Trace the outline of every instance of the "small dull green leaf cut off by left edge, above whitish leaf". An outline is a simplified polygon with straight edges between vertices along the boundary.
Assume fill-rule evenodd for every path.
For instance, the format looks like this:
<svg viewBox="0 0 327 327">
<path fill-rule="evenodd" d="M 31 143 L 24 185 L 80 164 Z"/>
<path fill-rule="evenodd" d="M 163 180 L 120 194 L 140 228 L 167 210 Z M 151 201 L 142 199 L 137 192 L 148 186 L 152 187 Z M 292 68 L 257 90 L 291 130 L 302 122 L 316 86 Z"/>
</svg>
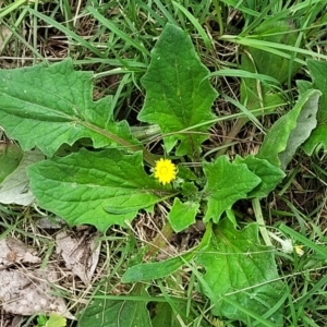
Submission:
<svg viewBox="0 0 327 327">
<path fill-rule="evenodd" d="M 23 153 L 15 144 L 0 144 L 0 183 L 20 165 Z"/>
</svg>

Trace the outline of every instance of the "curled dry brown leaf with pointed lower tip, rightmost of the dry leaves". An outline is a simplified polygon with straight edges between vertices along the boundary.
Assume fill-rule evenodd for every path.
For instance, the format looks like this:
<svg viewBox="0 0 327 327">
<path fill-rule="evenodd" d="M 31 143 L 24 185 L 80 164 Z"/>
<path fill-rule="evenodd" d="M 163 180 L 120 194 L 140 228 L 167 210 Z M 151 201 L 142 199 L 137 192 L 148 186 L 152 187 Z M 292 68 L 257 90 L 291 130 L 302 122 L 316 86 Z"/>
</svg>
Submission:
<svg viewBox="0 0 327 327">
<path fill-rule="evenodd" d="M 58 233 L 56 243 L 57 253 L 61 254 L 65 266 L 88 284 L 100 254 L 100 244 L 95 249 L 96 235 L 85 233 L 80 239 L 73 239 L 62 231 Z"/>
</svg>

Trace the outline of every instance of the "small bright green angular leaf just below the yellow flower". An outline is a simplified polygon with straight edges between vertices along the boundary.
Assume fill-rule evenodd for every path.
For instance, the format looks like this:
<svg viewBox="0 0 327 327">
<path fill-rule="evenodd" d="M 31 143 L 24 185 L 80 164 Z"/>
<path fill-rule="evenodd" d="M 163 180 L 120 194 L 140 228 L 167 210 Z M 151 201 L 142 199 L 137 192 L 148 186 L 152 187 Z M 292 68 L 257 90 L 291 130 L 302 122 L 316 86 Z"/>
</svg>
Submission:
<svg viewBox="0 0 327 327">
<path fill-rule="evenodd" d="M 194 223 L 198 207 L 198 203 L 193 203 L 191 201 L 182 203 L 175 197 L 167 217 L 172 229 L 178 233 Z"/>
</svg>

